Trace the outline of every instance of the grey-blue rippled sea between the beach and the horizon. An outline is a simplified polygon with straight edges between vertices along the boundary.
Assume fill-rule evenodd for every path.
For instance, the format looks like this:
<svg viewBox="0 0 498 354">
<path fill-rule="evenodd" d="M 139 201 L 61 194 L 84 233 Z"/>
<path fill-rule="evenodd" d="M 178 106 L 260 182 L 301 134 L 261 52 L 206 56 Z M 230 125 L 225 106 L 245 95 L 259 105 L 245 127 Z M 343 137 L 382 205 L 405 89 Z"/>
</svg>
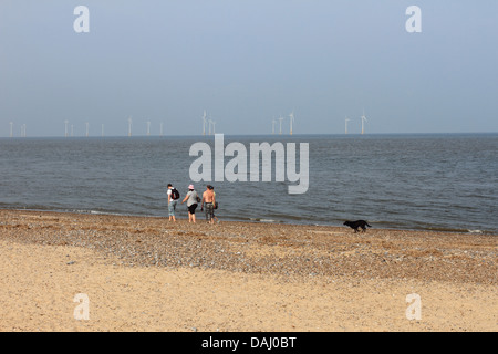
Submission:
<svg viewBox="0 0 498 354">
<path fill-rule="evenodd" d="M 0 138 L 0 208 L 167 216 L 166 185 L 185 196 L 196 142 L 214 146 L 212 136 Z M 230 142 L 248 152 L 250 143 L 309 143 L 310 186 L 289 195 L 288 181 L 211 183 L 221 220 L 498 231 L 498 134 L 225 136 Z M 186 207 L 177 214 L 187 217 Z"/>
</svg>

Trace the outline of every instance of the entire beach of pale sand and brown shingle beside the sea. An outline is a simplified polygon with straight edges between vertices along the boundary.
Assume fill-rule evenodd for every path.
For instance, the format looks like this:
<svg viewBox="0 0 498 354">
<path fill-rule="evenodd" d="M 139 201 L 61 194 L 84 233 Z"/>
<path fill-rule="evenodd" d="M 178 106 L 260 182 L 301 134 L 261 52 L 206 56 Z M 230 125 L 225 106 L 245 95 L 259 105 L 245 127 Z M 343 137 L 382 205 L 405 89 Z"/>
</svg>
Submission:
<svg viewBox="0 0 498 354">
<path fill-rule="evenodd" d="M 497 331 L 497 246 L 0 210 L 0 331 Z"/>
</svg>

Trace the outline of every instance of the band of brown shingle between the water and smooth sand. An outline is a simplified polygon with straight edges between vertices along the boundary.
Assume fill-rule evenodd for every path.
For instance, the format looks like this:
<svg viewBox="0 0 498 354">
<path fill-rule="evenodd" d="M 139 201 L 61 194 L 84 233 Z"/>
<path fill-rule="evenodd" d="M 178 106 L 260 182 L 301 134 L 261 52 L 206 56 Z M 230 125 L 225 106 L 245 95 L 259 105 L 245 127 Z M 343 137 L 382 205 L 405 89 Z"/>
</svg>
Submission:
<svg viewBox="0 0 498 354">
<path fill-rule="evenodd" d="M 1 211 L 2 238 L 74 246 L 134 267 L 198 267 L 287 277 L 419 279 L 497 284 L 495 235 L 132 216 Z"/>
</svg>

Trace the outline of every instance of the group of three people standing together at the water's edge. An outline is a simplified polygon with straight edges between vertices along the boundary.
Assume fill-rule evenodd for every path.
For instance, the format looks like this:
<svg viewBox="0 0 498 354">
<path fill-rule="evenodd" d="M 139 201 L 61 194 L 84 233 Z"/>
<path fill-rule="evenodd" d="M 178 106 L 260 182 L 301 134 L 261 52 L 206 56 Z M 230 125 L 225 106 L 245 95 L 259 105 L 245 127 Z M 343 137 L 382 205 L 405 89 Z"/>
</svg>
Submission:
<svg viewBox="0 0 498 354">
<path fill-rule="evenodd" d="M 176 221 L 175 210 L 179 200 L 178 190 L 173 187 L 172 184 L 168 184 L 168 215 L 169 221 Z M 188 192 L 185 196 L 181 204 L 187 202 L 188 209 L 188 222 L 196 222 L 196 209 L 198 204 L 200 202 L 200 211 L 206 210 L 206 221 L 209 223 L 215 223 L 215 208 L 216 204 L 216 194 L 215 188 L 211 185 L 206 186 L 206 190 L 203 192 L 203 198 L 199 197 L 197 191 L 194 188 L 194 185 L 188 186 Z"/>
</svg>

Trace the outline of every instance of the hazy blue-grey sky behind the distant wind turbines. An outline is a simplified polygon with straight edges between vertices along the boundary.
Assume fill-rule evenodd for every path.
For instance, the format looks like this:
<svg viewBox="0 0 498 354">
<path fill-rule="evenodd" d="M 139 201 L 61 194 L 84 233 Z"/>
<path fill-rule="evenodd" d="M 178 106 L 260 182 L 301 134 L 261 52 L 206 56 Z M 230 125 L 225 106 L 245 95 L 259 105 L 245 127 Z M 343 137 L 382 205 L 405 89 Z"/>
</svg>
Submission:
<svg viewBox="0 0 498 354">
<path fill-rule="evenodd" d="M 87 33 L 73 11 L 86 6 Z M 409 6 L 422 32 L 405 29 Z M 0 1 L 0 137 L 498 132 L 498 1 Z"/>
</svg>

